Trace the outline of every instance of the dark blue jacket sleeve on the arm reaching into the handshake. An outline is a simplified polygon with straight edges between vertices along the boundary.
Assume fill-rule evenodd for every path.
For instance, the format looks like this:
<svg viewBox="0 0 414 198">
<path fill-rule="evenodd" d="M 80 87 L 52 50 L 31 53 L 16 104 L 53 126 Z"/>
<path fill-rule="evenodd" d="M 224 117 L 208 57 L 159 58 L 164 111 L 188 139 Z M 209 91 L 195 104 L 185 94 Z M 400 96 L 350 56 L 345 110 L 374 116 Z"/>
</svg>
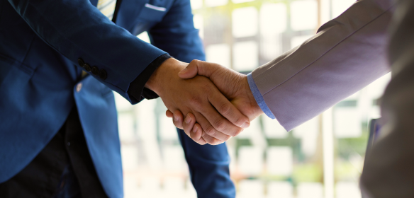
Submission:
<svg viewBox="0 0 414 198">
<path fill-rule="evenodd" d="M 132 82 L 153 60 L 166 52 L 109 21 L 87 0 L 9 0 L 11 6 L 50 47 L 78 65 L 82 59 L 106 71 L 101 83 L 128 95 Z"/>
</svg>

